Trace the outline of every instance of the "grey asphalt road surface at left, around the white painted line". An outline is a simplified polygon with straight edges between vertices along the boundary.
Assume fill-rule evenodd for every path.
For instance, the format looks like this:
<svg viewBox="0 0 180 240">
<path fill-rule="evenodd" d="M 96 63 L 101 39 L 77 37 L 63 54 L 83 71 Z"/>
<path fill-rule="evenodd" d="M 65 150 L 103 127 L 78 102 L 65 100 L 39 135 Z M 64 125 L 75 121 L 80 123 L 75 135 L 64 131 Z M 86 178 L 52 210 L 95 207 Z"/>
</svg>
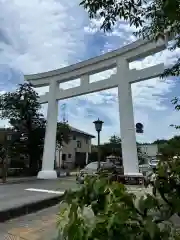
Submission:
<svg viewBox="0 0 180 240">
<path fill-rule="evenodd" d="M 26 189 L 28 188 L 64 191 L 67 189 L 76 189 L 77 187 L 75 177 L 0 185 L 0 211 L 57 196 L 55 193 L 27 191 Z"/>
</svg>

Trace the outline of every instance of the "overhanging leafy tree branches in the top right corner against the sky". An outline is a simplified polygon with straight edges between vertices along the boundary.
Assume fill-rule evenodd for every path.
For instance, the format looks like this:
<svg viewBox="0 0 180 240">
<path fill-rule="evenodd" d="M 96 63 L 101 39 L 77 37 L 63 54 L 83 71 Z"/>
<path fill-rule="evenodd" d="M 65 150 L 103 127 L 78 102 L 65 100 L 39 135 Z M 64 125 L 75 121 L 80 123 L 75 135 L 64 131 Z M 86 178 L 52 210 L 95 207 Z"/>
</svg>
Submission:
<svg viewBox="0 0 180 240">
<path fill-rule="evenodd" d="M 82 0 L 90 19 L 102 18 L 101 29 L 111 31 L 118 20 L 127 21 L 139 30 L 138 37 L 157 39 L 165 35 L 173 41 L 171 50 L 180 47 L 179 0 Z M 179 76 L 180 58 L 163 76 Z"/>
</svg>

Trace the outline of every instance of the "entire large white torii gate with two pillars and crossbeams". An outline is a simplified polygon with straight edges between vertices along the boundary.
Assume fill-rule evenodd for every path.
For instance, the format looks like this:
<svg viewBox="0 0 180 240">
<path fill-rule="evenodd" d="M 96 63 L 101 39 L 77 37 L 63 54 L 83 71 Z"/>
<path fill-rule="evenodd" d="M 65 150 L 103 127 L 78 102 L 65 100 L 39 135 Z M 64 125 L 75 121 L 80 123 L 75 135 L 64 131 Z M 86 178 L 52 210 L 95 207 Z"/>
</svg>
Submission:
<svg viewBox="0 0 180 240">
<path fill-rule="evenodd" d="M 40 96 L 40 103 L 48 103 L 48 110 L 42 170 L 38 173 L 38 178 L 57 178 L 56 171 L 54 170 L 54 157 L 56 148 L 58 100 L 114 87 L 118 88 L 124 173 L 127 175 L 140 175 L 131 84 L 158 77 L 164 71 L 164 64 L 158 64 L 141 70 L 130 70 L 129 63 L 160 52 L 165 48 L 166 44 L 162 40 L 159 40 L 158 42 L 138 40 L 118 50 L 68 67 L 25 76 L 25 79 L 31 82 L 34 87 L 49 85 L 49 92 Z M 89 82 L 90 75 L 114 67 L 117 68 L 116 74 L 105 80 L 93 83 Z M 59 83 L 72 81 L 77 78 L 81 79 L 80 86 L 66 90 L 59 89 Z"/>
</svg>

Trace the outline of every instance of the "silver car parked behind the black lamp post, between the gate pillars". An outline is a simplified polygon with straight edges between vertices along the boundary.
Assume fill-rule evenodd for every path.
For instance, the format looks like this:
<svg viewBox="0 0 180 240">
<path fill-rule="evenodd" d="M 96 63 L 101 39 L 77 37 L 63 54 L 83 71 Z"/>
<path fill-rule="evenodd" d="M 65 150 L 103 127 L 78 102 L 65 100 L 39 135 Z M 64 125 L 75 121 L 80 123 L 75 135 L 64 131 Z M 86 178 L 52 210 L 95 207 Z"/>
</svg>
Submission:
<svg viewBox="0 0 180 240">
<path fill-rule="evenodd" d="M 78 183 L 83 183 L 87 175 L 97 174 L 98 162 L 91 162 L 86 165 L 85 168 L 81 169 L 80 172 L 76 175 L 76 181 Z M 100 170 L 112 170 L 114 171 L 116 166 L 111 162 L 101 162 Z"/>
</svg>

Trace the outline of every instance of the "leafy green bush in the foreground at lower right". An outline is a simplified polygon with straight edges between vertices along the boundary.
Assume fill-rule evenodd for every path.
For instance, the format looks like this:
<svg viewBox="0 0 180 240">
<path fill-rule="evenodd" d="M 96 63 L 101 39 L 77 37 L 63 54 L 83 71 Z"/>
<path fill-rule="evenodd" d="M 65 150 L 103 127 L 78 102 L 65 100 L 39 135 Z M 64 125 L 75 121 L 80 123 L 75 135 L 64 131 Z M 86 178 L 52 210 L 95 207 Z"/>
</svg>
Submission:
<svg viewBox="0 0 180 240">
<path fill-rule="evenodd" d="M 104 174 L 87 177 L 78 191 L 65 193 L 58 218 L 59 239 L 180 239 L 170 221 L 180 210 L 180 163 L 174 164 L 169 161 L 159 167 L 153 184 L 158 194 L 139 198 Z"/>
</svg>

